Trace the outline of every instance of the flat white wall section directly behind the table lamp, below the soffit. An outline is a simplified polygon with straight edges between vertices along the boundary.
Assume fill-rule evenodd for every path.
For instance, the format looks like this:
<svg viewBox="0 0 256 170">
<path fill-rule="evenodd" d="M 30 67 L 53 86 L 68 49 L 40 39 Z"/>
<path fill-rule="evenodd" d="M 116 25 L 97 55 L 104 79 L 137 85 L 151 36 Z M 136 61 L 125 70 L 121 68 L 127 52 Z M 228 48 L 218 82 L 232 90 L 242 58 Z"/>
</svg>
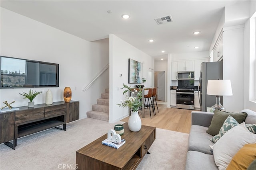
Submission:
<svg viewBox="0 0 256 170">
<path fill-rule="evenodd" d="M 223 33 L 223 79 L 230 80 L 233 96 L 223 96 L 227 111 L 244 108 L 244 25 L 224 27 Z"/>
</svg>

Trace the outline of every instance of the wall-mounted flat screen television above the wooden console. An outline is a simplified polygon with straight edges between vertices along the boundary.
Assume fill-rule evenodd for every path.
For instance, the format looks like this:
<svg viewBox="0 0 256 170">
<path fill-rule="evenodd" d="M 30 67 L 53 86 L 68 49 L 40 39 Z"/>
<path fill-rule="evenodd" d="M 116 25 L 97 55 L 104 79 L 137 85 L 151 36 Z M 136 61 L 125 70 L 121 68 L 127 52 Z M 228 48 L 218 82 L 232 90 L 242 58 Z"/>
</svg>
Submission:
<svg viewBox="0 0 256 170">
<path fill-rule="evenodd" d="M 59 86 L 59 64 L 0 57 L 0 88 Z"/>
</svg>

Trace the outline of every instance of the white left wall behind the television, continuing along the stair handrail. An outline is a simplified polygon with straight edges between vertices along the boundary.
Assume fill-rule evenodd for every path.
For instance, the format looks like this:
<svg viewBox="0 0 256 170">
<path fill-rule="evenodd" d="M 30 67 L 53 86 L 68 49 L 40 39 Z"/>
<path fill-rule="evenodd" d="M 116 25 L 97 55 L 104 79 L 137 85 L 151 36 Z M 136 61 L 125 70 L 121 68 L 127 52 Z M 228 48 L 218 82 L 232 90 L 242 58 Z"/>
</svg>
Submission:
<svg viewBox="0 0 256 170">
<path fill-rule="evenodd" d="M 44 91 L 34 99 L 35 104 L 45 103 L 47 89 L 51 89 L 54 102 L 63 101 L 63 90 L 70 86 L 72 100 L 80 101 L 81 119 L 86 117 L 86 111 L 92 109 L 92 104 L 96 104 L 96 99 L 108 87 L 109 75 L 105 72 L 88 91 L 81 91 L 108 64 L 108 39 L 90 43 L 1 8 L 0 40 L 3 56 L 59 64 L 60 87 L 32 89 Z M 15 100 L 12 106 L 27 106 L 28 99 L 23 99 L 18 93 L 28 92 L 29 89 L 0 89 L 0 102 Z"/>
</svg>

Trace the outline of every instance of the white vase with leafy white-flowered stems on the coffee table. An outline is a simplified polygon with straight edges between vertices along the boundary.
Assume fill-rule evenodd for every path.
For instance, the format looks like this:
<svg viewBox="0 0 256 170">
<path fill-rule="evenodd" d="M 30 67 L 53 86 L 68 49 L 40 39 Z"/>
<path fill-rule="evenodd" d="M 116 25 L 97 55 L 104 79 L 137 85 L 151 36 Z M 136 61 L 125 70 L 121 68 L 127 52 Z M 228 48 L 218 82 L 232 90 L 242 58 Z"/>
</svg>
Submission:
<svg viewBox="0 0 256 170">
<path fill-rule="evenodd" d="M 129 107 L 131 109 L 131 116 L 128 120 L 128 127 L 130 131 L 137 132 L 141 128 L 141 119 L 138 115 L 139 108 L 142 106 L 142 90 L 132 89 L 131 86 L 128 87 L 124 84 L 124 87 L 121 89 L 124 90 L 123 94 L 125 95 L 125 100 L 121 100 L 121 104 L 118 104 L 120 107 Z M 129 92 L 130 96 L 127 94 Z"/>
</svg>

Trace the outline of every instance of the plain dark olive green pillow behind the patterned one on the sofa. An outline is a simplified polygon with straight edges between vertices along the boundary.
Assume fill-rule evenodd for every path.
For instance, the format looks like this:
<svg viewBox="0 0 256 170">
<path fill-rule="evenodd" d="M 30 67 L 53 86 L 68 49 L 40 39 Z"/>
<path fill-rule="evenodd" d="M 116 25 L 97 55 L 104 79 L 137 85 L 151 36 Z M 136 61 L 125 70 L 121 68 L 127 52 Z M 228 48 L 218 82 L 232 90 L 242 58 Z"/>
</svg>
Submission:
<svg viewBox="0 0 256 170">
<path fill-rule="evenodd" d="M 220 128 L 222 127 L 224 121 L 228 118 L 229 115 L 236 119 L 236 121 L 238 121 L 238 123 L 240 124 L 245 120 L 247 113 L 228 113 L 226 111 L 215 109 L 211 125 L 206 132 L 212 136 L 218 135 Z"/>
</svg>

